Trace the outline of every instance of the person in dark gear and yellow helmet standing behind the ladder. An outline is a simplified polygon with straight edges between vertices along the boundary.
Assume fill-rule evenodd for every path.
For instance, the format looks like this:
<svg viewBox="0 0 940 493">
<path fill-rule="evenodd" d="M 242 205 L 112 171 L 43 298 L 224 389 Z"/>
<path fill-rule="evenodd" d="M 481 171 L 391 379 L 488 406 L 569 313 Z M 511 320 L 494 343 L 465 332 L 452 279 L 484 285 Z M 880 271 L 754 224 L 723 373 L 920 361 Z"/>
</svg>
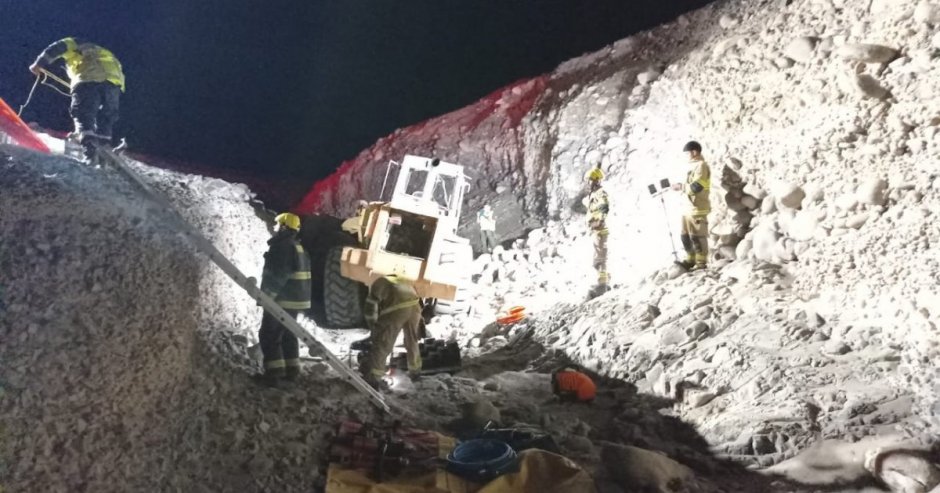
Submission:
<svg viewBox="0 0 940 493">
<path fill-rule="evenodd" d="M 261 291 L 296 318 L 302 310 L 310 309 L 310 257 L 297 239 L 300 218 L 284 213 L 275 222 L 277 231 L 264 254 Z M 280 379 L 296 380 L 300 375 L 297 336 L 265 312 L 258 339 L 264 354 L 263 383 L 277 386 Z"/>
</svg>

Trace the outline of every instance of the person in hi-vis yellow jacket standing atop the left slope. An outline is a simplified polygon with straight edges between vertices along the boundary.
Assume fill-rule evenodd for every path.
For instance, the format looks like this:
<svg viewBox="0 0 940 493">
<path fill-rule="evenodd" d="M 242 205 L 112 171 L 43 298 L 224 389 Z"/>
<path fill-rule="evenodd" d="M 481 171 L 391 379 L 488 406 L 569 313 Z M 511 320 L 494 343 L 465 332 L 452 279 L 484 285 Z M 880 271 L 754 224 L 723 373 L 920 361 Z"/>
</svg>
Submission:
<svg viewBox="0 0 940 493">
<path fill-rule="evenodd" d="M 109 50 L 79 38 L 52 43 L 29 70 L 38 76 L 59 59 L 65 63 L 71 83 L 69 114 L 75 124 L 73 135 L 85 149 L 85 157 L 90 158 L 94 145 L 110 145 L 113 141 L 124 92 L 124 71 L 121 62 Z"/>
</svg>

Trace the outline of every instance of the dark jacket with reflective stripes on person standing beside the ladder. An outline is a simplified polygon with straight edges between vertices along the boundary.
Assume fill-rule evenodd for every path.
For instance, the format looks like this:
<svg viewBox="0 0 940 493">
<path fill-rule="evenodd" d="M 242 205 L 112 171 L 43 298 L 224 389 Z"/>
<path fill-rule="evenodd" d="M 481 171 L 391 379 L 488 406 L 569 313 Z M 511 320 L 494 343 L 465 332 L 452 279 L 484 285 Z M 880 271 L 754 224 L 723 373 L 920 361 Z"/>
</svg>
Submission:
<svg viewBox="0 0 940 493">
<path fill-rule="evenodd" d="M 281 308 L 307 310 L 310 308 L 312 275 L 310 257 L 290 230 L 278 232 L 268 241 L 264 254 L 261 290 L 274 298 Z"/>
</svg>

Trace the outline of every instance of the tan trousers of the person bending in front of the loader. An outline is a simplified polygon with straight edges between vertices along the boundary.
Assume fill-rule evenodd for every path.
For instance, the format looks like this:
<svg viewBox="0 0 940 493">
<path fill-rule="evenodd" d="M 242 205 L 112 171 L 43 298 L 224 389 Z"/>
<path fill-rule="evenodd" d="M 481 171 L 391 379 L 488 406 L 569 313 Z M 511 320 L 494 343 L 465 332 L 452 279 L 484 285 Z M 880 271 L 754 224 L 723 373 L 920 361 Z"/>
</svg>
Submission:
<svg viewBox="0 0 940 493">
<path fill-rule="evenodd" d="M 396 310 L 385 315 L 380 315 L 372 327 L 372 334 L 369 336 L 370 347 L 369 354 L 363 361 L 363 367 L 360 369 L 363 375 L 371 373 L 376 377 L 381 377 L 386 371 L 386 362 L 388 356 L 395 349 L 395 340 L 398 339 L 398 333 L 405 331 L 405 351 L 408 353 L 408 371 L 421 370 L 421 352 L 418 349 L 418 340 L 420 339 L 419 330 L 421 326 L 421 307 L 411 306 Z"/>
</svg>

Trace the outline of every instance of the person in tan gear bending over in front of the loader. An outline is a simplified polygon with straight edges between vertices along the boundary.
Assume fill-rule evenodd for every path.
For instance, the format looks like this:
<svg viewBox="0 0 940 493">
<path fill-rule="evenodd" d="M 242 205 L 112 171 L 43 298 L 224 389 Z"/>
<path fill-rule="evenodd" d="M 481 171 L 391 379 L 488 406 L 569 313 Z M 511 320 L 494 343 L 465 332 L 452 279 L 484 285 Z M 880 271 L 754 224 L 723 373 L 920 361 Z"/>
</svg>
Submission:
<svg viewBox="0 0 940 493">
<path fill-rule="evenodd" d="M 368 354 L 360 371 L 367 382 L 379 389 L 383 386 L 386 361 L 395 348 L 398 333 L 405 332 L 408 371 L 421 371 L 421 303 L 414 286 L 395 275 L 380 277 L 369 288 L 366 299 L 366 324 L 371 331 Z"/>
</svg>

